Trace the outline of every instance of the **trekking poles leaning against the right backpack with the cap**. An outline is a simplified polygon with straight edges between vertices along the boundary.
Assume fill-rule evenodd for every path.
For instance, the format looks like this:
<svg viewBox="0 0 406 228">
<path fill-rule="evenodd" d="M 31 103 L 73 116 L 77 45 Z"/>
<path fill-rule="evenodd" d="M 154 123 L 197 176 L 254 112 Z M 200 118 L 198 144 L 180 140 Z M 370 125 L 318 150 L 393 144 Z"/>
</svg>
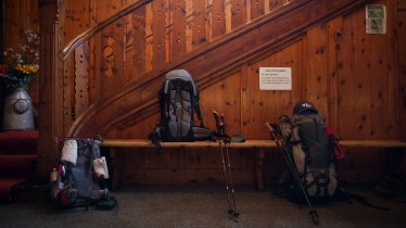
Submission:
<svg viewBox="0 0 406 228">
<path fill-rule="evenodd" d="M 269 124 L 269 123 L 265 123 L 265 126 L 267 126 L 269 128 L 269 131 L 270 131 L 270 137 L 275 140 L 275 142 L 277 143 L 277 147 L 278 149 L 282 152 L 283 156 L 284 156 L 284 161 L 286 161 L 286 164 L 288 165 L 289 169 L 291 170 L 291 174 L 293 175 L 294 179 L 296 180 L 296 183 L 297 186 L 300 187 L 302 193 L 303 193 L 303 197 L 307 203 L 307 206 L 309 208 L 309 216 L 312 217 L 312 221 L 313 224 L 319 224 L 319 215 L 317 213 L 317 211 L 312 206 L 312 203 L 308 199 L 308 195 L 307 195 L 307 192 L 301 181 L 301 178 L 297 174 L 297 170 L 293 164 L 293 161 L 292 161 L 292 157 L 289 155 L 289 151 L 286 147 L 286 142 L 284 140 L 282 139 L 282 136 L 280 134 L 280 129 L 279 129 L 279 137 L 277 135 L 277 130 L 278 130 L 278 126 L 275 125 L 275 124 Z"/>
</svg>

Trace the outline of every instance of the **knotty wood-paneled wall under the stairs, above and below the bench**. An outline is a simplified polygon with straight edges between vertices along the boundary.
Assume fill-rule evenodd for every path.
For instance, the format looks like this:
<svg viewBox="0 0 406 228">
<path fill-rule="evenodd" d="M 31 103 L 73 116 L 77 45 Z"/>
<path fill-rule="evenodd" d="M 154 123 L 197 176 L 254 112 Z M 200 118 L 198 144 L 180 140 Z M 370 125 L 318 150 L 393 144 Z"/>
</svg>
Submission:
<svg viewBox="0 0 406 228">
<path fill-rule="evenodd" d="M 398 61 L 404 62 L 397 59 L 404 56 L 406 50 L 403 45 L 396 43 L 399 34 L 395 33 L 397 26 L 394 23 L 396 13 L 402 13 L 402 10 L 396 10 L 393 1 L 375 3 L 386 7 L 385 35 L 367 35 L 365 9 L 359 9 L 315 25 L 293 43 L 242 65 L 217 84 L 205 88 L 201 92 L 201 106 L 207 126 L 214 127 L 211 111 L 218 110 L 225 113 L 229 132 L 243 132 L 250 139 L 267 139 L 264 122 L 276 122 L 280 114 L 291 114 L 296 101 L 308 99 L 343 139 L 404 139 L 402 129 L 405 128 L 401 122 L 405 117 L 405 107 L 399 103 L 399 99 L 404 98 L 398 96 L 404 92 L 404 85 L 399 87 L 397 83 L 404 83 L 404 73 L 397 73 L 396 65 Z M 401 17 L 397 20 L 402 21 Z M 402 25 L 401 21 L 398 25 Z M 397 33 L 403 31 L 399 29 Z M 261 91 L 258 68 L 262 66 L 292 67 L 292 90 Z M 145 138 L 158 121 L 158 115 L 144 121 L 120 129 L 117 136 Z M 153 151 L 145 150 L 141 152 L 142 155 L 132 156 L 130 154 L 134 151 L 126 151 L 127 165 L 124 165 L 123 180 L 128 180 L 127 183 L 169 185 L 192 181 L 207 185 L 214 180 L 221 181 L 218 154 L 215 151 L 169 150 L 164 155 L 169 167 L 151 163 L 154 159 L 162 160 Z M 376 181 L 388 170 L 388 157 L 383 149 L 347 149 L 346 152 L 348 160 L 342 163 L 341 173 L 348 181 Z M 233 161 L 238 170 L 237 181 L 249 185 L 253 180 L 253 173 L 250 172 L 252 164 L 245 161 L 252 161 L 250 153 L 237 152 L 233 156 L 239 157 Z M 169 162 L 175 157 L 176 162 Z M 128 165 L 131 161 L 138 165 Z M 277 151 L 267 153 L 267 181 L 271 181 L 278 174 L 281 162 Z M 210 168 L 195 172 L 198 166 Z M 169 175 L 173 178 L 167 180 L 162 177 L 165 173 L 174 175 Z"/>
</svg>

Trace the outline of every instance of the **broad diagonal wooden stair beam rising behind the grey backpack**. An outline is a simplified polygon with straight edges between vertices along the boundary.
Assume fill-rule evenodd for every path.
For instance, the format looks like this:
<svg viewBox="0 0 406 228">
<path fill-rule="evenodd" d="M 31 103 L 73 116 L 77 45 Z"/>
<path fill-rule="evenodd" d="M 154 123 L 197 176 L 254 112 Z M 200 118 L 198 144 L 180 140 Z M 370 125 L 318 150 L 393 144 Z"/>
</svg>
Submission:
<svg viewBox="0 0 406 228">
<path fill-rule="evenodd" d="M 279 50 L 283 45 L 297 39 L 309 26 L 342 13 L 351 12 L 366 2 L 366 0 L 343 0 L 331 4 L 326 1 L 295 1 L 289 8 L 283 9 L 283 13 L 264 16 L 261 18 L 263 21 L 255 21 L 258 25 L 250 24 L 248 27 L 241 28 L 230 36 L 217 40 L 217 42 L 207 45 L 178 62 L 173 62 L 163 68 L 147 73 L 142 77 L 141 83 L 129 84 L 116 94 L 98 101 L 75 121 L 68 135 L 105 134 L 114 127 L 119 127 L 123 123 L 135 122 L 144 117 L 145 113 L 151 114 L 151 111 L 156 111 L 157 99 L 156 96 L 153 97 L 152 94 L 157 94 L 158 88 L 156 85 L 161 85 L 158 79 L 169 69 L 186 68 L 196 76 L 195 81 L 198 85 L 210 85 L 244 62 L 254 61 L 266 53 Z M 254 35 L 257 40 L 256 43 L 252 42 L 252 36 Z M 218 53 L 229 52 L 231 48 L 233 48 L 233 59 L 221 59 L 223 56 Z M 142 96 L 142 100 L 128 103 L 128 97 L 138 97 L 140 90 L 142 91 L 145 87 L 152 90 L 148 94 Z M 98 123 L 96 122 L 96 114 L 103 116 L 103 112 L 109 109 L 115 109 L 112 104 L 119 103 L 120 100 L 126 100 L 127 102 L 125 110 L 116 112 L 114 116 L 110 116 L 110 119 L 100 117 Z"/>
</svg>

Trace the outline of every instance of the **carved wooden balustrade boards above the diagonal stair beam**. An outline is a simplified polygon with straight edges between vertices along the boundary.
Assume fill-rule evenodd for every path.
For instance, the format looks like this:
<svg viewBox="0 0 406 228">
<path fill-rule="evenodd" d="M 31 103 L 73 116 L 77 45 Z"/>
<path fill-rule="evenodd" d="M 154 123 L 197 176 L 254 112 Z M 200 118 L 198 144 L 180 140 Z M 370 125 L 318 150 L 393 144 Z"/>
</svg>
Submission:
<svg viewBox="0 0 406 228">
<path fill-rule="evenodd" d="M 136 1 L 65 1 L 65 42 L 131 2 Z M 69 106 L 91 104 L 113 96 L 126 84 L 148 80 L 145 73 L 162 71 L 165 64 L 179 62 L 187 53 L 289 2 L 153 1 L 107 26 L 89 42 L 90 58 L 96 58 L 96 62 L 89 61 L 88 97 L 72 97 Z M 74 66 L 71 67 L 74 72 Z M 73 86 L 75 81 L 65 84 Z M 74 116 L 67 122 L 83 112 L 83 109 L 69 112 Z"/>
</svg>

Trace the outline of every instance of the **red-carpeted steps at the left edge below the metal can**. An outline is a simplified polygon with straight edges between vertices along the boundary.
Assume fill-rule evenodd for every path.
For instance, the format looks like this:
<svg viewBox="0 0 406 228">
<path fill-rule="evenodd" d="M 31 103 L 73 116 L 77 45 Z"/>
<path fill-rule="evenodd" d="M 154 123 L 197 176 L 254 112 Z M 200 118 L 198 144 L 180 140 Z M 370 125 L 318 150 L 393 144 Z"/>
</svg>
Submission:
<svg viewBox="0 0 406 228">
<path fill-rule="evenodd" d="M 39 132 L 0 132 L 0 202 L 13 200 L 12 188 L 34 176 Z"/>
</svg>

